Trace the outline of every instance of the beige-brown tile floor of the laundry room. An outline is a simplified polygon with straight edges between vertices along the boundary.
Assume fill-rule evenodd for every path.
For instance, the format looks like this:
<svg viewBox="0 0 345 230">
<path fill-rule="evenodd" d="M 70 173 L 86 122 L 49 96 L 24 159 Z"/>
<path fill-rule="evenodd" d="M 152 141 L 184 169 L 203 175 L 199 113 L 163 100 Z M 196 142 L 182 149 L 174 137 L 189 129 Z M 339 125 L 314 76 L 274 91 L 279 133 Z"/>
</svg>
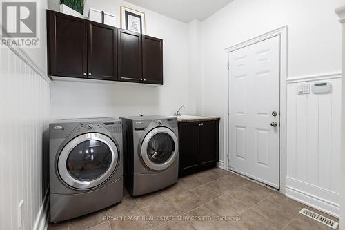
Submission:
<svg viewBox="0 0 345 230">
<path fill-rule="evenodd" d="M 148 195 L 132 198 L 124 191 L 121 204 L 48 229 L 331 229 L 299 214 L 302 207 L 235 173 L 210 169 Z"/>
</svg>

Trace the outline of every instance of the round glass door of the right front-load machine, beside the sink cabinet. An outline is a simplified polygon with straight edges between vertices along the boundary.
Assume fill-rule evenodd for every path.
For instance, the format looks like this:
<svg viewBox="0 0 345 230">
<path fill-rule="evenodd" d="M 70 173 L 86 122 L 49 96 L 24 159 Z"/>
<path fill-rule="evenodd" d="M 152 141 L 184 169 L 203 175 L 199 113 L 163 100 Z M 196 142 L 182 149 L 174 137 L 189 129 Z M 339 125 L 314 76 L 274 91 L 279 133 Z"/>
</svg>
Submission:
<svg viewBox="0 0 345 230">
<path fill-rule="evenodd" d="M 141 144 L 141 158 L 148 168 L 162 171 L 175 162 L 178 149 L 175 133 L 169 128 L 158 127 L 144 137 Z"/>
</svg>

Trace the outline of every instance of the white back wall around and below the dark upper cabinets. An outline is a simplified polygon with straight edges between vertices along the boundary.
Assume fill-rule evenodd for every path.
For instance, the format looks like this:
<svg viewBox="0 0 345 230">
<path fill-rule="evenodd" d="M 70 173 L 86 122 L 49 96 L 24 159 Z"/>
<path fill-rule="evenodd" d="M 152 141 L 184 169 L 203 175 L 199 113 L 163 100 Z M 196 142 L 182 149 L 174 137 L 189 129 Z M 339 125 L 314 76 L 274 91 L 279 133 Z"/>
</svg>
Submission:
<svg viewBox="0 0 345 230">
<path fill-rule="evenodd" d="M 194 113 L 194 102 L 188 101 L 188 25 L 125 1 L 86 1 L 86 9 L 96 8 L 117 15 L 118 27 L 121 5 L 145 12 L 146 34 L 164 40 L 164 86 L 53 82 L 54 118 L 173 115 L 183 104 L 186 111 L 182 113 Z"/>
</svg>

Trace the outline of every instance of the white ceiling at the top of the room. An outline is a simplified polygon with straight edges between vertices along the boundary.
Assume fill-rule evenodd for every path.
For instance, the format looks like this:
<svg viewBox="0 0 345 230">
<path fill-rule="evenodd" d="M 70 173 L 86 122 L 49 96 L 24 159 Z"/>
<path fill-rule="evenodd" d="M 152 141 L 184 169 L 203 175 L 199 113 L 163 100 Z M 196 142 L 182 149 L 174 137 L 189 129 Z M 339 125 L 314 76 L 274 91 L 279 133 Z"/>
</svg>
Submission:
<svg viewBox="0 0 345 230">
<path fill-rule="evenodd" d="M 233 0 L 125 0 L 183 22 L 203 21 Z"/>
</svg>

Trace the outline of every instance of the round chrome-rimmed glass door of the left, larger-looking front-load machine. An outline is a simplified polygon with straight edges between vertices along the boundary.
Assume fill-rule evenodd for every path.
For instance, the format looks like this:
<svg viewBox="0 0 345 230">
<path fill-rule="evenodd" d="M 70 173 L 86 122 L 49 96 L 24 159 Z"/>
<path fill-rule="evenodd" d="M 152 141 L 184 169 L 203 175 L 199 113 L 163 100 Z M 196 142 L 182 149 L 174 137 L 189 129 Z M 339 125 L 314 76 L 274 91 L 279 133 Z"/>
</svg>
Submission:
<svg viewBox="0 0 345 230">
<path fill-rule="evenodd" d="M 76 189 L 92 189 L 115 171 L 119 152 L 115 143 L 101 133 L 86 133 L 66 144 L 58 160 L 61 179 Z"/>
</svg>

